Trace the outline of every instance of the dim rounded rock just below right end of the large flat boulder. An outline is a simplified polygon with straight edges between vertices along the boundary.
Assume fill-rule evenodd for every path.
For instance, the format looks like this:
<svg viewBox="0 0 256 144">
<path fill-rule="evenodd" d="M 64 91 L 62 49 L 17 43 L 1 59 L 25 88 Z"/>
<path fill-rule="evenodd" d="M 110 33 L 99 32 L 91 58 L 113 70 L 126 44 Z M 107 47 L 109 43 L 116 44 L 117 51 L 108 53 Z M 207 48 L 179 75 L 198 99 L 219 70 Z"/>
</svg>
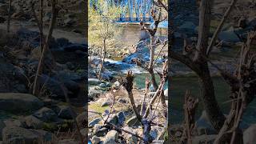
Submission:
<svg viewBox="0 0 256 144">
<path fill-rule="evenodd" d="M 54 110 L 47 107 L 43 107 L 42 109 L 36 111 L 33 116 L 42 120 L 43 122 L 57 122 L 58 120 L 58 116 L 55 114 Z"/>
</svg>

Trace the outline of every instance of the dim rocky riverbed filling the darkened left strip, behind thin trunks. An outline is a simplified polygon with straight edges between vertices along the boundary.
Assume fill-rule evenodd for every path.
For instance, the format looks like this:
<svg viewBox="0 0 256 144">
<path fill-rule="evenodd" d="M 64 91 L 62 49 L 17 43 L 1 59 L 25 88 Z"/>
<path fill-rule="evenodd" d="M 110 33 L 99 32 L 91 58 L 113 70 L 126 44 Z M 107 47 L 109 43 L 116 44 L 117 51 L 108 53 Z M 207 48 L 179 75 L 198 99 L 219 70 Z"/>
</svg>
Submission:
<svg viewBox="0 0 256 144">
<path fill-rule="evenodd" d="M 74 119 L 82 137 L 86 136 L 84 2 L 58 1 L 58 5 L 62 9 L 50 39 L 54 68 L 47 67 L 51 59 L 46 56 L 46 67 L 38 78 L 39 94 L 34 96 L 34 74 L 41 52 L 31 4 L 12 2 L 8 34 L 8 1 L 0 1 L 0 143 L 80 143 Z M 45 3 L 44 8 L 47 34 L 50 6 Z"/>
</svg>

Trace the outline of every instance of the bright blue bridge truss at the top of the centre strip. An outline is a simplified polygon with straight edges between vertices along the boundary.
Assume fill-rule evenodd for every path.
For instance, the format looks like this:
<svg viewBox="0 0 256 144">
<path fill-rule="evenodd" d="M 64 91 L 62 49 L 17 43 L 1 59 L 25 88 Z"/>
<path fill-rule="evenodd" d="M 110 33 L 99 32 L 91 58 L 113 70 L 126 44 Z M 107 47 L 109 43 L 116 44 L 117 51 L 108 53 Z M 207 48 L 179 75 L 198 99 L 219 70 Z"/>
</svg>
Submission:
<svg viewBox="0 0 256 144">
<path fill-rule="evenodd" d="M 106 0 L 107 6 L 120 6 L 117 22 L 153 22 L 150 15 L 153 0 Z M 90 6 L 100 7 L 98 0 L 90 0 Z"/>
</svg>

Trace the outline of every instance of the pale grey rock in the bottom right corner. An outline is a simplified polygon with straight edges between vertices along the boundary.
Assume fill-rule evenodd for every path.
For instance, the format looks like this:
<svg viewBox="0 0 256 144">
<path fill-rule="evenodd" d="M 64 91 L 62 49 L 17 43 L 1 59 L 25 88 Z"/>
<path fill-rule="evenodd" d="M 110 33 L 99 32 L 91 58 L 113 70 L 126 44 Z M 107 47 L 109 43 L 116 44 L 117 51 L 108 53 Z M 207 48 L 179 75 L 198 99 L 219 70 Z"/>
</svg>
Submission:
<svg viewBox="0 0 256 144">
<path fill-rule="evenodd" d="M 251 125 L 243 132 L 243 143 L 254 144 L 256 142 L 256 125 Z"/>
</svg>

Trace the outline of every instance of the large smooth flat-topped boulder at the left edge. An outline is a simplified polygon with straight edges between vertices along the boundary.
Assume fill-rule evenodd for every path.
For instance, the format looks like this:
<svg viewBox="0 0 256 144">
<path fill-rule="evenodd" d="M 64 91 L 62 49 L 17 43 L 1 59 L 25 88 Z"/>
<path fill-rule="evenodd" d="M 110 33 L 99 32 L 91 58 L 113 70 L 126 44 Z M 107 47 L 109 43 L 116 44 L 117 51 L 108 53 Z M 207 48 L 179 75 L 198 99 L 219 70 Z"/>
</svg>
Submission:
<svg viewBox="0 0 256 144">
<path fill-rule="evenodd" d="M 43 102 L 31 94 L 0 93 L 0 110 L 11 113 L 26 113 L 38 110 Z"/>
</svg>

